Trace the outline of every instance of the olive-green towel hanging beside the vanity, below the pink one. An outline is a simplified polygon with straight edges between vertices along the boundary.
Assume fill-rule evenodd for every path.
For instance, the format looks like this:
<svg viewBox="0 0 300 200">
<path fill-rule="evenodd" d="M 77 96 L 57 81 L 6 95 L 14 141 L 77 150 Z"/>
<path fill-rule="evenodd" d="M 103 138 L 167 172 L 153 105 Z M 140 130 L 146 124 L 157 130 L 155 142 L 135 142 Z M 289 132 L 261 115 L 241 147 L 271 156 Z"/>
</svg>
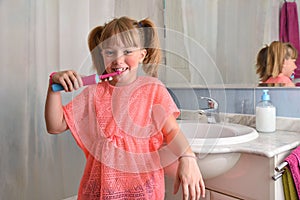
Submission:
<svg viewBox="0 0 300 200">
<path fill-rule="evenodd" d="M 282 185 L 285 200 L 298 200 L 292 173 L 287 166 L 284 167 L 284 173 L 282 175 Z"/>
</svg>

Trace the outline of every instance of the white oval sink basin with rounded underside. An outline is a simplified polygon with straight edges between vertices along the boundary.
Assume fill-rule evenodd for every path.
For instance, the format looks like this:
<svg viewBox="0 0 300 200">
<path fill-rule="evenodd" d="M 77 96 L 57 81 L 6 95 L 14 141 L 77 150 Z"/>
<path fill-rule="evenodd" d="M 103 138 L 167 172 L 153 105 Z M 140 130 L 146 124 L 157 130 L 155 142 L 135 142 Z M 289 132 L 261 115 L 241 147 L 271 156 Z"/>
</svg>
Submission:
<svg viewBox="0 0 300 200">
<path fill-rule="evenodd" d="M 238 124 L 206 124 L 178 120 L 192 150 L 204 179 L 214 178 L 230 170 L 239 160 L 240 153 L 231 146 L 258 137 L 255 129 Z"/>
</svg>

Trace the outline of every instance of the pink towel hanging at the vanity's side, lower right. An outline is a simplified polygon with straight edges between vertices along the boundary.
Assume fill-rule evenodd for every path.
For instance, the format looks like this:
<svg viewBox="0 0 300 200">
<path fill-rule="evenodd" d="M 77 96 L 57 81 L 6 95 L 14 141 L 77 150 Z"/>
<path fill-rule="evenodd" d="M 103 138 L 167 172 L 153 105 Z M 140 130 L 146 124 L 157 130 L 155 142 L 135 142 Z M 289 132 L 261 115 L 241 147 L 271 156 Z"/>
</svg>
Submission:
<svg viewBox="0 0 300 200">
<path fill-rule="evenodd" d="M 295 183 L 295 187 L 300 199 L 300 146 L 291 152 L 291 154 L 285 159 L 289 163 L 289 168 L 292 173 L 292 177 Z"/>
</svg>

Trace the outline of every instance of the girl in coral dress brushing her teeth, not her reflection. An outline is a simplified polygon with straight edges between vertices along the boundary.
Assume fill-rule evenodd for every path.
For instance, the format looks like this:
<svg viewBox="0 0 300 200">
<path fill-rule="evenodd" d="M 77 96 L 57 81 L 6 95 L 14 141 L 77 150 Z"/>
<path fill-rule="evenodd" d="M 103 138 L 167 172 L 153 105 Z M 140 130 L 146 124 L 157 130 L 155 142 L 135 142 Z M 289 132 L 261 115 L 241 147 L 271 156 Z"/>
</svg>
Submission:
<svg viewBox="0 0 300 200">
<path fill-rule="evenodd" d="M 114 19 L 89 34 L 98 74 L 120 72 L 110 82 L 86 87 L 63 106 L 48 89 L 45 120 L 49 133 L 70 129 L 86 155 L 78 199 L 164 199 L 164 170 L 178 162 L 174 184 L 183 199 L 204 197 L 205 186 L 189 144 L 176 122 L 179 115 L 164 85 L 155 78 L 160 61 L 154 24 Z M 149 77 L 138 77 L 142 64 Z M 82 86 L 80 75 L 50 75 L 66 92 Z"/>
</svg>

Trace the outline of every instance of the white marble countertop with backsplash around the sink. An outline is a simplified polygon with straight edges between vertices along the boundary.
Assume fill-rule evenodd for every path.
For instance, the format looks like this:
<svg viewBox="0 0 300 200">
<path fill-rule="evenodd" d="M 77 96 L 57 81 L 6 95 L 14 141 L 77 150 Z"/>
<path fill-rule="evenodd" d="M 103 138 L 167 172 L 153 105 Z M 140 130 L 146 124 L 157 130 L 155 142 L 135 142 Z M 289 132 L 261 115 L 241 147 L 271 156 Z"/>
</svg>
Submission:
<svg viewBox="0 0 300 200">
<path fill-rule="evenodd" d="M 242 124 L 255 129 L 255 116 L 243 114 L 221 114 L 227 123 Z M 276 118 L 276 131 L 274 133 L 258 133 L 259 136 L 245 143 L 232 144 L 227 146 L 216 145 L 200 152 L 206 153 L 253 153 L 266 157 L 274 157 L 285 151 L 296 148 L 300 145 L 300 118 Z M 199 148 L 199 147 L 198 147 Z M 193 147 L 192 147 L 193 149 Z M 199 150 L 199 149 L 198 149 Z"/>
</svg>

